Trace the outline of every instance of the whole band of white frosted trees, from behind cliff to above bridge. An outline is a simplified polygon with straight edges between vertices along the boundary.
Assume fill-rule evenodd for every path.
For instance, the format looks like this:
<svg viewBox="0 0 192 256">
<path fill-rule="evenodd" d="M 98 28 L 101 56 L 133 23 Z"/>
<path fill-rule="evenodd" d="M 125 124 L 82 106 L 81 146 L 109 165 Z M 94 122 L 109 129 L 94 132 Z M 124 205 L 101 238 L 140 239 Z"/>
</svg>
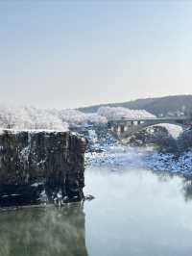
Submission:
<svg viewBox="0 0 192 256">
<path fill-rule="evenodd" d="M 108 120 L 156 117 L 144 110 L 102 107 L 97 113 L 84 114 L 74 109 L 38 109 L 35 107 L 12 107 L 0 105 L 0 127 L 14 130 L 67 131 L 70 127 L 87 127 L 90 124 L 106 124 Z"/>
</svg>

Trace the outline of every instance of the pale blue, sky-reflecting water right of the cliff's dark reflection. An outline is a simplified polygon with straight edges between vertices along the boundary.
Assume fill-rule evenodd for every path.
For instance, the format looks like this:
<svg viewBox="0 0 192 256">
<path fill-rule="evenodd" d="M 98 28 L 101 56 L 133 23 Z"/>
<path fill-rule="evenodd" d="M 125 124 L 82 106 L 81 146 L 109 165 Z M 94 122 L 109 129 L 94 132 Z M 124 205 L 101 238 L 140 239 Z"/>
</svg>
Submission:
<svg viewBox="0 0 192 256">
<path fill-rule="evenodd" d="M 86 170 L 85 190 L 96 197 L 84 205 L 88 254 L 190 256 L 192 202 L 185 198 L 191 184 L 162 172 L 120 168 Z"/>
</svg>

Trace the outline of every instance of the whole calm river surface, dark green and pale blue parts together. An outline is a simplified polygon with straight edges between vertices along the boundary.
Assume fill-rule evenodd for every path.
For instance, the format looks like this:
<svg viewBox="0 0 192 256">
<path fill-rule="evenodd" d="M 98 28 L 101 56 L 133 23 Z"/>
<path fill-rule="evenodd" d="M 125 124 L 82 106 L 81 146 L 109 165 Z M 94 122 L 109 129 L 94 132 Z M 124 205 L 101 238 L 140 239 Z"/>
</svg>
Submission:
<svg viewBox="0 0 192 256">
<path fill-rule="evenodd" d="M 84 205 L 0 212 L 0 256 L 191 256 L 191 180 L 89 167 L 85 184 Z"/>
</svg>

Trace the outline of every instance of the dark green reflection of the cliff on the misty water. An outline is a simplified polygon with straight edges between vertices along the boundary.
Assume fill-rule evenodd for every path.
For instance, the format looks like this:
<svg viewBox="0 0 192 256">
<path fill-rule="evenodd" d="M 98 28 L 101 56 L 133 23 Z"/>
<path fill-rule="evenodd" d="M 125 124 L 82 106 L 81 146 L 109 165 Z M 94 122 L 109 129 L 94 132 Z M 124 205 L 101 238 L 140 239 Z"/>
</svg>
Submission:
<svg viewBox="0 0 192 256">
<path fill-rule="evenodd" d="M 0 213 L 0 256 L 86 256 L 83 205 Z"/>
</svg>

